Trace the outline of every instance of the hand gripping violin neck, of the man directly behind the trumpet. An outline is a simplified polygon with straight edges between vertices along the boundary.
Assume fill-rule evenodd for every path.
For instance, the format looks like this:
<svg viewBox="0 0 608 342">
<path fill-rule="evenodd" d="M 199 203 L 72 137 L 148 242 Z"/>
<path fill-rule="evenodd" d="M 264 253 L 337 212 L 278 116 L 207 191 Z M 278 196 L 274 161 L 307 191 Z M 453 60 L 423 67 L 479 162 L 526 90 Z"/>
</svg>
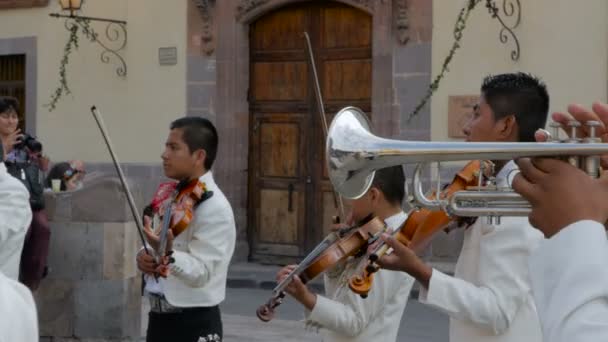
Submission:
<svg viewBox="0 0 608 342">
<path fill-rule="evenodd" d="M 387 270 L 406 272 L 428 289 L 433 269 L 393 236 L 382 234 L 381 239 L 393 249 L 393 252 L 378 259 L 378 265 Z"/>
</svg>

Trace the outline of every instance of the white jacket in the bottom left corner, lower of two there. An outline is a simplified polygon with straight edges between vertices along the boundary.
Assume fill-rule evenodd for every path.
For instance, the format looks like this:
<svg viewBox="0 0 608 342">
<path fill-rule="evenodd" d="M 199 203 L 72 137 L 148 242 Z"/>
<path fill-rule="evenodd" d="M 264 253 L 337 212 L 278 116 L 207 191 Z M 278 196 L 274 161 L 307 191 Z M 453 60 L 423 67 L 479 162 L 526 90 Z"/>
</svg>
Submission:
<svg viewBox="0 0 608 342">
<path fill-rule="evenodd" d="M 1 272 L 0 317 L 0 342 L 38 342 L 38 318 L 32 293 Z"/>
</svg>

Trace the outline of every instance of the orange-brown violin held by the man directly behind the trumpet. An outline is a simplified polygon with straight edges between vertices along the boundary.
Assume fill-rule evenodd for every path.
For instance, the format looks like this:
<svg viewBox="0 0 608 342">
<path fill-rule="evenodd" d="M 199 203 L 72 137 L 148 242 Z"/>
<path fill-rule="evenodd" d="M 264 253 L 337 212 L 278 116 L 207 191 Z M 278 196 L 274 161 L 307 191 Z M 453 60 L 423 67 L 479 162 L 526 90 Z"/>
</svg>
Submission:
<svg viewBox="0 0 608 342">
<path fill-rule="evenodd" d="M 450 197 L 456 191 L 465 190 L 467 187 L 476 186 L 480 182 L 480 177 L 483 175 L 482 165 L 484 170 L 489 170 L 488 161 L 471 161 L 462 170 L 460 170 L 452 183 L 450 183 L 443 191 L 440 192 L 440 198 Z M 431 198 L 436 198 L 433 194 Z M 432 239 L 432 237 L 458 217 L 451 217 L 443 210 L 431 211 L 426 208 L 415 208 L 408 214 L 407 220 L 403 225 L 393 233 L 393 236 L 400 243 L 408 246 L 416 252 L 420 252 Z M 351 277 L 349 280 L 349 288 L 359 294 L 362 298 L 366 298 L 373 282 L 373 275 L 380 266 L 377 264 L 378 259 L 389 252 L 389 247 L 385 242 L 380 242 L 378 246 L 369 256 L 369 262 L 363 269 L 361 274 Z"/>
</svg>

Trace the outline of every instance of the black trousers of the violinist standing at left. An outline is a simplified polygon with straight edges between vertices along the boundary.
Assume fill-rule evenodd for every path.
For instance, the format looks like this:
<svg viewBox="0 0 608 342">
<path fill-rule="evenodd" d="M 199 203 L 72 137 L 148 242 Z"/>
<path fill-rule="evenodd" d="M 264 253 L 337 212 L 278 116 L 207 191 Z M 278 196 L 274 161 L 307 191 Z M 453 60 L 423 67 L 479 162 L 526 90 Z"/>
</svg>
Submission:
<svg viewBox="0 0 608 342">
<path fill-rule="evenodd" d="M 223 339 L 219 306 L 188 308 L 178 313 L 148 314 L 146 342 L 216 342 Z M 209 338 L 211 336 L 211 339 Z"/>
</svg>

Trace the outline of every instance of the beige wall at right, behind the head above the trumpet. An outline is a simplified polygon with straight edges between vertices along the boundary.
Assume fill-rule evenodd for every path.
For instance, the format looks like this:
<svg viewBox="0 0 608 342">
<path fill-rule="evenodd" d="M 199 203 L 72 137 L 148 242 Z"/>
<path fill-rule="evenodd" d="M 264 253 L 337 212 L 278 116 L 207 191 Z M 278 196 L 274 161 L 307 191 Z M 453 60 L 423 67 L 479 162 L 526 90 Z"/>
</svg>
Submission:
<svg viewBox="0 0 608 342">
<path fill-rule="evenodd" d="M 433 1 L 433 76 L 452 45 L 453 26 L 464 2 Z M 433 97 L 433 140 L 448 139 L 448 96 L 478 94 L 481 80 L 488 74 L 524 71 L 541 77 L 548 86 L 551 111 L 564 110 L 572 102 L 606 100 L 608 2 L 521 1 L 522 19 L 516 29 L 521 57 L 517 62 L 510 58 L 513 43 L 500 43 L 500 25 L 484 3 L 469 18 L 462 48 Z"/>
</svg>

